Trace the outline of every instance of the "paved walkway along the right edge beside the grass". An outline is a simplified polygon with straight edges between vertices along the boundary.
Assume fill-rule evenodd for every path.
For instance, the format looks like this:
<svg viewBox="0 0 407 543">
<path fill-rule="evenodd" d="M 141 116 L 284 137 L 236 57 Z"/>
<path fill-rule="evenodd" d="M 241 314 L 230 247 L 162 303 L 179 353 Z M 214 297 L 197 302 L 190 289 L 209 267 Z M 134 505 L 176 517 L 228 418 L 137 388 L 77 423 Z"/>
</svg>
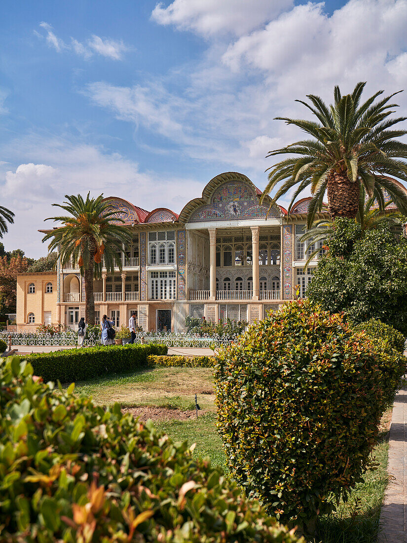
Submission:
<svg viewBox="0 0 407 543">
<path fill-rule="evenodd" d="M 390 481 L 380 513 L 378 543 L 407 543 L 407 386 L 395 398 L 389 445 Z"/>
</svg>

